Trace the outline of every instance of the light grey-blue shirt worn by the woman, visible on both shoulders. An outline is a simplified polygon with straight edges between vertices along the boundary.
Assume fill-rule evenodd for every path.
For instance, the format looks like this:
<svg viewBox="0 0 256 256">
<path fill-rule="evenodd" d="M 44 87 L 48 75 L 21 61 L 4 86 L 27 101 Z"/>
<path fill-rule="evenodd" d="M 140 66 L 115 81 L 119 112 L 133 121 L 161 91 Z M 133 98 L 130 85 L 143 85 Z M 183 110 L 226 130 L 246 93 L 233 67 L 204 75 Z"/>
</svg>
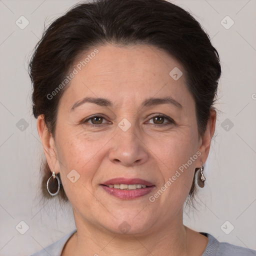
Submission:
<svg viewBox="0 0 256 256">
<path fill-rule="evenodd" d="M 60 256 L 66 241 L 74 232 L 76 230 L 71 231 L 58 241 L 30 256 Z M 208 237 L 207 246 L 201 256 L 256 256 L 256 250 L 240 247 L 228 242 L 219 242 L 209 233 L 200 232 L 200 234 Z"/>
</svg>

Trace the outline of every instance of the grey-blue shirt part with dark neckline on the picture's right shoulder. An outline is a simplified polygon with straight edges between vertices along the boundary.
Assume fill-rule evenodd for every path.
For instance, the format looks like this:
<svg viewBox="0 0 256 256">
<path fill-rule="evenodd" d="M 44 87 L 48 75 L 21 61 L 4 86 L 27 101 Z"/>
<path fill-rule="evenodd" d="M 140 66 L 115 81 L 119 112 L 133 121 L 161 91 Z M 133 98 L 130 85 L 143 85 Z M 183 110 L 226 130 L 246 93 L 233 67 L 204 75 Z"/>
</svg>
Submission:
<svg viewBox="0 0 256 256">
<path fill-rule="evenodd" d="M 202 256 L 256 256 L 256 250 L 237 246 L 228 242 L 219 242 L 209 233 L 203 233 L 208 237 L 208 244 Z"/>
</svg>

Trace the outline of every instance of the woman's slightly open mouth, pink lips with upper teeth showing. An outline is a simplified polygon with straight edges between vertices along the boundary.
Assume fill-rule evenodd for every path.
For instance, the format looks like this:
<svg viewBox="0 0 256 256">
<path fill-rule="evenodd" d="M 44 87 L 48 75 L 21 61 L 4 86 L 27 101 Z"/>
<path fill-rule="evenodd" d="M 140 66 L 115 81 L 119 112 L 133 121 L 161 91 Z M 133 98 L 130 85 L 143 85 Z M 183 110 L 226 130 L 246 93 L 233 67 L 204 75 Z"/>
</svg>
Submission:
<svg viewBox="0 0 256 256">
<path fill-rule="evenodd" d="M 110 195 L 119 199 L 135 199 L 149 193 L 155 185 L 140 178 L 113 178 L 100 186 Z"/>
</svg>

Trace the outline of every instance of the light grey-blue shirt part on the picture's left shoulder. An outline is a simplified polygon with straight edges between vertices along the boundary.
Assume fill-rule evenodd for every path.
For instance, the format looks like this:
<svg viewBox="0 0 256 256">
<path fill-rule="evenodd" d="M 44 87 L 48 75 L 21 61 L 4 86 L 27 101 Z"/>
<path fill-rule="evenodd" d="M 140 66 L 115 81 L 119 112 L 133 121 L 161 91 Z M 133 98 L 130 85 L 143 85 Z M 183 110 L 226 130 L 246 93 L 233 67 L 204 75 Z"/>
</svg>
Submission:
<svg viewBox="0 0 256 256">
<path fill-rule="evenodd" d="M 49 256 L 49 255 L 60 256 L 66 241 L 69 239 L 69 237 L 71 237 L 71 235 L 74 232 L 76 232 L 76 229 L 67 233 L 65 236 L 63 236 L 59 240 L 53 242 L 52 244 L 48 245 L 45 248 L 42 248 L 41 250 L 33 253 L 30 256 Z"/>
</svg>

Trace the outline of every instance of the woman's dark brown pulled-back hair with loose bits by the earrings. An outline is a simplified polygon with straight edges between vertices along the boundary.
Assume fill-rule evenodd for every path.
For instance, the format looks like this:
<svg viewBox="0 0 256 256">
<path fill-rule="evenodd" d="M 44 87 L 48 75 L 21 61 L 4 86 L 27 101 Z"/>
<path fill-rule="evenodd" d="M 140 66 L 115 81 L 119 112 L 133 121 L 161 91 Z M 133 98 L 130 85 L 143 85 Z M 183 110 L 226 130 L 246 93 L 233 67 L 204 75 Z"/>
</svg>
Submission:
<svg viewBox="0 0 256 256">
<path fill-rule="evenodd" d="M 217 93 L 221 68 L 217 50 L 208 34 L 184 9 L 165 0 L 95 0 L 74 5 L 44 30 L 29 63 L 33 84 L 35 118 L 43 114 L 55 137 L 59 99 L 47 97 L 68 74 L 81 53 L 112 43 L 118 46 L 147 44 L 164 50 L 183 66 L 186 85 L 195 101 L 198 135 L 202 136 Z M 51 175 L 47 162 L 41 165 L 42 190 Z M 197 170 L 197 169 L 195 169 Z M 193 179 L 189 196 L 195 192 Z M 63 187 L 59 198 L 67 200 Z"/>
</svg>

